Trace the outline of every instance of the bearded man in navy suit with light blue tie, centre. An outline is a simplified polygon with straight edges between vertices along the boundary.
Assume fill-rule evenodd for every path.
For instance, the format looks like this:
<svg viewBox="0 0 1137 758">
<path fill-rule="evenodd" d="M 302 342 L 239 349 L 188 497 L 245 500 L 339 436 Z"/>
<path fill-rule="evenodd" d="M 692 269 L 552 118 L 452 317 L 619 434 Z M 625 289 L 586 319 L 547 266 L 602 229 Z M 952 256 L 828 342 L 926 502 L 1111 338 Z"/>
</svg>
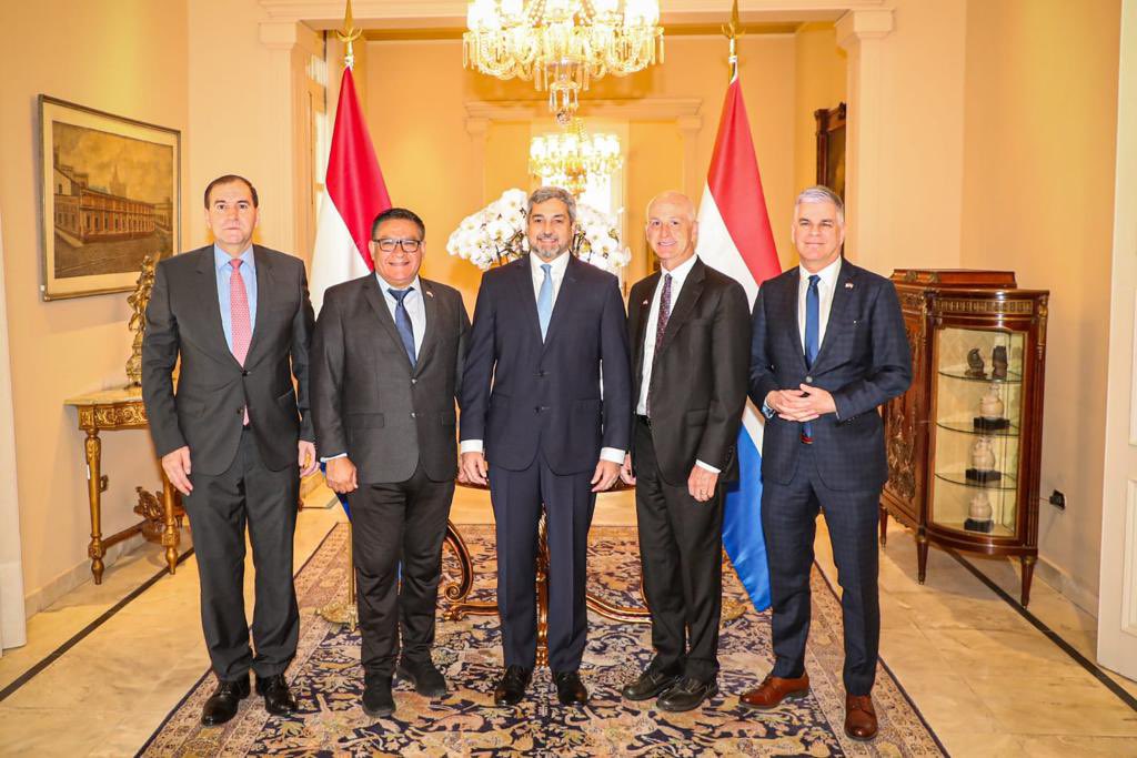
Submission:
<svg viewBox="0 0 1137 758">
<path fill-rule="evenodd" d="M 485 273 L 462 383 L 462 469 L 497 520 L 505 673 L 493 698 L 524 697 L 537 655 L 537 527 L 549 547 L 549 667 L 564 705 L 583 705 L 584 560 L 596 493 L 620 475 L 631 423 L 628 334 L 616 277 L 568 253 L 573 197 L 528 203 L 531 253 Z M 603 369 L 603 383 L 601 383 Z"/>
</svg>

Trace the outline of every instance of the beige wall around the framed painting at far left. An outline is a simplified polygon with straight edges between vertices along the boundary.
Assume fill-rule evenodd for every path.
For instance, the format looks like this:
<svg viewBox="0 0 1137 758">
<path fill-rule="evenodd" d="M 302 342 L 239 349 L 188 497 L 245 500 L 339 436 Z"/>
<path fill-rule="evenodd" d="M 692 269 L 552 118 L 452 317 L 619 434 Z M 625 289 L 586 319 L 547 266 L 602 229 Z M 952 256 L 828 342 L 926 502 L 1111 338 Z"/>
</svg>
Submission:
<svg viewBox="0 0 1137 758">
<path fill-rule="evenodd" d="M 124 384 L 131 352 L 125 293 L 40 300 L 35 98 L 42 92 L 182 130 L 184 139 L 185 15 L 181 0 L 0 5 L 0 207 L 24 581 L 32 610 L 43 599 L 40 590 L 84 561 L 89 541 L 83 434 L 63 400 Z M 103 472 L 110 489 L 103 493 L 102 526 L 111 534 L 136 520 L 134 486 L 158 486 L 148 435 L 106 435 Z"/>
</svg>

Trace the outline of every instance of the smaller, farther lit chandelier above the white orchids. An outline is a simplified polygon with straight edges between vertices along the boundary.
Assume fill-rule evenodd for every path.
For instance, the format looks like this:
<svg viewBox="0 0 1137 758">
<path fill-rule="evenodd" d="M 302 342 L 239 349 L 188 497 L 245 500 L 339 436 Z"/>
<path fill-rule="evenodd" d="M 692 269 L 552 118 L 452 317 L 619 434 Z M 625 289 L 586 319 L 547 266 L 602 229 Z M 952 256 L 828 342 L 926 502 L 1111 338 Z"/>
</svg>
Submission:
<svg viewBox="0 0 1137 758">
<path fill-rule="evenodd" d="M 587 134 L 579 118 L 564 132 L 534 136 L 529 143 L 529 173 L 574 195 L 612 175 L 622 163 L 616 135 Z"/>
</svg>

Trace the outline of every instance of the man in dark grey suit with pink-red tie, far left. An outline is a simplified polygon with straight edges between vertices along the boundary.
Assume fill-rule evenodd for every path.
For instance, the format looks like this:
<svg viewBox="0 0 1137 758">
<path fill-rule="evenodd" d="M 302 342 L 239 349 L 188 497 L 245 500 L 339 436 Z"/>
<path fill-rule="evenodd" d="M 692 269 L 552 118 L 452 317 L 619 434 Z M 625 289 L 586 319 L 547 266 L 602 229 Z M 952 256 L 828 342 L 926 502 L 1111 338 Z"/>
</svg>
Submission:
<svg viewBox="0 0 1137 758">
<path fill-rule="evenodd" d="M 300 476 L 318 461 L 307 413 L 313 316 L 304 261 L 251 243 L 258 210 L 248 180 L 214 180 L 205 203 L 214 244 L 163 260 L 155 273 L 142 398 L 193 530 L 201 623 L 218 680 L 201 723 L 213 726 L 249 695 L 250 667 L 268 713 L 296 709 L 284 681 L 300 630 L 292 534 Z M 246 524 L 257 569 L 256 655 L 242 591 Z"/>
</svg>

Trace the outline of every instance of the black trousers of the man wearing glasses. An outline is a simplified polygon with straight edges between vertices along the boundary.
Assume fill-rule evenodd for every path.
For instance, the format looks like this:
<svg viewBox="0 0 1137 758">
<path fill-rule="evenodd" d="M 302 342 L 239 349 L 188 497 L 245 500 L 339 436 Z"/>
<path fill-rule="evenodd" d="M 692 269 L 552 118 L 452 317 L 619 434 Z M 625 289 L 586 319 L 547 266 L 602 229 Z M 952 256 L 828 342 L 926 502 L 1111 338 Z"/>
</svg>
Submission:
<svg viewBox="0 0 1137 758">
<path fill-rule="evenodd" d="M 422 463 L 398 483 L 360 483 L 348 494 L 365 678 L 430 660 L 454 480 L 433 482 Z M 401 631 L 401 645 L 400 645 Z"/>
</svg>

